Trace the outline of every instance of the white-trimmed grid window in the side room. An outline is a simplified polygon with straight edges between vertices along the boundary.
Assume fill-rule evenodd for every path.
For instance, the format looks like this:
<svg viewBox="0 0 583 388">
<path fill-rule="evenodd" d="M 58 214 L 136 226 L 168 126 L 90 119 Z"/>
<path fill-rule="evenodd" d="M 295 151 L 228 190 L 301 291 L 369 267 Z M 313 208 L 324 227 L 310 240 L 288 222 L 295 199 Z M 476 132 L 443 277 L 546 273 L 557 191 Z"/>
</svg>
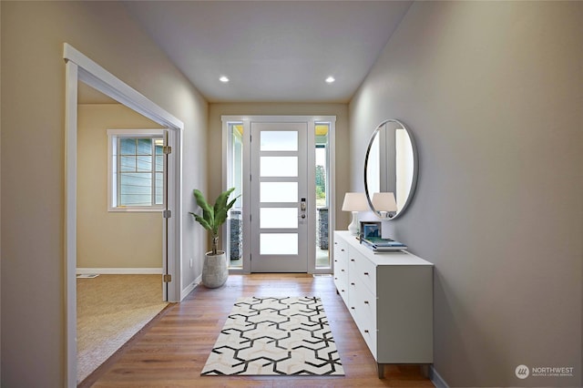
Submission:
<svg viewBox="0 0 583 388">
<path fill-rule="evenodd" d="M 109 211 L 164 209 L 164 130 L 109 129 Z"/>
</svg>

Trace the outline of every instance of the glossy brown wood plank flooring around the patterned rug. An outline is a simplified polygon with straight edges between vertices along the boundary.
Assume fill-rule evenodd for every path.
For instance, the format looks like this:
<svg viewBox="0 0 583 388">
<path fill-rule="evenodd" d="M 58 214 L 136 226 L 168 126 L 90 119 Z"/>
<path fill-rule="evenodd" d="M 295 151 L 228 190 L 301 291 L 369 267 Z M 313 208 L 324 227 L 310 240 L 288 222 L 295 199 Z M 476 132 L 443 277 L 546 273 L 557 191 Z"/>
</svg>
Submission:
<svg viewBox="0 0 583 388">
<path fill-rule="evenodd" d="M 332 328 L 345 376 L 200 376 L 210 350 L 240 296 L 318 296 Z M 170 305 L 148 327 L 79 386 L 93 387 L 433 387 L 417 365 L 376 363 L 332 277 L 305 274 L 230 275 L 220 289 L 199 286 Z"/>
</svg>

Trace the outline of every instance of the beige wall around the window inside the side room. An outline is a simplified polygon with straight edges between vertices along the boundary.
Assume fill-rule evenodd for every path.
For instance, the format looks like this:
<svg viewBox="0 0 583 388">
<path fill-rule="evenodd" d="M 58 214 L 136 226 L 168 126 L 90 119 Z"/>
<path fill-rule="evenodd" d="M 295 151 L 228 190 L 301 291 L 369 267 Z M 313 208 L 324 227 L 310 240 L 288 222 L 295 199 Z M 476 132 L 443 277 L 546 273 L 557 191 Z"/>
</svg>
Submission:
<svg viewBox="0 0 583 388">
<path fill-rule="evenodd" d="M 160 212 L 107 210 L 107 129 L 160 128 L 120 104 L 77 109 L 77 268 L 162 268 Z"/>
</svg>

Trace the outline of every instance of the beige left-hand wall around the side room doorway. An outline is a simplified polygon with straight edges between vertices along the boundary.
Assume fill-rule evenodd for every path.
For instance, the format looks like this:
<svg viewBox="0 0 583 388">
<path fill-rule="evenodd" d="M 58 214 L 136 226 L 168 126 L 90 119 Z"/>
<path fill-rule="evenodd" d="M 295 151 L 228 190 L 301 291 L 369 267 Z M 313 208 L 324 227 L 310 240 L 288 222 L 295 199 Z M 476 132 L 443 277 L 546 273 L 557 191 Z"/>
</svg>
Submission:
<svg viewBox="0 0 583 388">
<path fill-rule="evenodd" d="M 3 1 L 0 6 L 1 385 L 61 387 L 66 381 L 63 43 L 185 123 L 181 288 L 199 276 L 206 248 L 203 230 L 188 211 L 195 209 L 191 190 L 206 188 L 208 105 L 118 2 Z"/>
</svg>

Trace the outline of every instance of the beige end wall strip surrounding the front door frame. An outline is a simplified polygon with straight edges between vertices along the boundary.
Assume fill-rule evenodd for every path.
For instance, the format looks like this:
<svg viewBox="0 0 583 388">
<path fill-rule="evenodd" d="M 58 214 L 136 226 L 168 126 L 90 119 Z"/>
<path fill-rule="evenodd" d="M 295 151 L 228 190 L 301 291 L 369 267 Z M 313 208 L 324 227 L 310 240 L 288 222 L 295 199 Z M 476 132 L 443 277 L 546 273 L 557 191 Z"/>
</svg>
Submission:
<svg viewBox="0 0 583 388">
<path fill-rule="evenodd" d="M 348 225 L 350 217 L 341 211 L 344 192 L 348 190 L 350 160 L 347 104 L 215 103 L 209 105 L 209 189 L 210 197 L 220 193 L 222 185 L 221 116 L 336 116 L 336 225 Z"/>
</svg>

